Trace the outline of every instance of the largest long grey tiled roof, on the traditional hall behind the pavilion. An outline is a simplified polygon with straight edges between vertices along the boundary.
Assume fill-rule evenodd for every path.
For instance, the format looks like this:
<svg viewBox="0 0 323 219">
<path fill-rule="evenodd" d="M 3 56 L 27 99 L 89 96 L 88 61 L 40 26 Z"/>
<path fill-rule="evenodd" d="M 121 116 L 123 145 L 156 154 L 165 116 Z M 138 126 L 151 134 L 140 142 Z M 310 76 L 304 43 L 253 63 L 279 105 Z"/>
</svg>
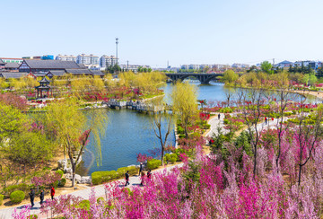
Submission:
<svg viewBox="0 0 323 219">
<path fill-rule="evenodd" d="M 78 66 L 74 61 L 60 61 L 60 60 L 24 60 L 28 66 L 37 69 L 78 69 Z"/>
</svg>

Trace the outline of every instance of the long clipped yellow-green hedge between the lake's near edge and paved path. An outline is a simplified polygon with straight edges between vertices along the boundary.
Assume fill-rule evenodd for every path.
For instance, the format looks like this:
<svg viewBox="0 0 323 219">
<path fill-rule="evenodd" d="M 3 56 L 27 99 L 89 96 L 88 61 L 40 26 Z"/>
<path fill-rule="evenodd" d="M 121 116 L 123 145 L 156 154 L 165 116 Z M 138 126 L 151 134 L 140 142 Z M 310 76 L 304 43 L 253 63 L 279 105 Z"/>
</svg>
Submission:
<svg viewBox="0 0 323 219">
<path fill-rule="evenodd" d="M 117 180 L 123 178 L 125 173 L 129 171 L 129 175 L 135 175 L 138 169 L 135 166 L 131 167 L 121 167 L 117 171 L 95 171 L 92 172 L 92 184 L 99 185 L 104 182 L 109 182 L 110 180 Z"/>
</svg>

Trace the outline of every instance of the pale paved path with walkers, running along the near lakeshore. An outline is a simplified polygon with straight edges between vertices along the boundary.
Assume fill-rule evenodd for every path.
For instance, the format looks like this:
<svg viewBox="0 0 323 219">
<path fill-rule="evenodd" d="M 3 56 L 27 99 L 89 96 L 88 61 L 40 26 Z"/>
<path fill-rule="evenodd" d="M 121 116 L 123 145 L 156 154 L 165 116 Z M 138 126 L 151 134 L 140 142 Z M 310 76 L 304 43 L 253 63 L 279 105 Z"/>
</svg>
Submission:
<svg viewBox="0 0 323 219">
<path fill-rule="evenodd" d="M 162 171 L 170 171 L 171 169 L 175 168 L 175 167 L 181 167 L 183 165 L 183 163 L 174 165 L 174 166 L 170 166 L 167 168 L 163 168 L 157 171 L 152 171 L 152 173 L 156 173 L 156 172 L 162 172 Z M 120 182 L 121 185 L 124 185 L 126 180 L 118 180 Z M 140 177 L 139 176 L 131 176 L 129 178 L 129 182 L 130 185 L 127 186 L 127 188 L 131 188 L 132 186 L 140 186 Z M 105 190 L 104 190 L 104 186 L 103 185 L 99 185 L 99 186 L 95 186 L 92 187 L 95 188 L 95 196 L 96 197 L 105 197 Z M 69 193 L 75 197 L 82 197 L 83 199 L 89 199 L 90 194 L 91 194 L 91 188 L 86 188 L 83 190 L 75 190 L 72 193 Z M 14 206 L 14 207 L 9 207 L 9 208 L 4 208 L 0 210 L 0 219 L 9 219 L 9 218 L 13 218 L 12 214 L 15 208 L 22 209 L 25 205 L 22 206 Z M 31 209 L 31 215 L 39 215 L 39 218 L 48 218 L 47 215 L 40 215 L 40 204 L 39 202 L 35 202 L 35 206 L 32 207 Z"/>
</svg>

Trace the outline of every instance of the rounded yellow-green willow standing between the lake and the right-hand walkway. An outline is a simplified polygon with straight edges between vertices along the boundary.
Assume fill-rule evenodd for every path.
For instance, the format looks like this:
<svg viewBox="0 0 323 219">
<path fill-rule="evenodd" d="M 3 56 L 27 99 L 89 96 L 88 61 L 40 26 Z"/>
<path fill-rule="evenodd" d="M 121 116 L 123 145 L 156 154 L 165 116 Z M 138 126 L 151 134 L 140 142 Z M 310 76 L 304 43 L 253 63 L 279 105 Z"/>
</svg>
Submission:
<svg viewBox="0 0 323 219">
<path fill-rule="evenodd" d="M 194 84 L 176 83 L 170 94 L 173 111 L 179 115 L 188 139 L 188 121 L 197 112 L 197 90 Z"/>
</svg>

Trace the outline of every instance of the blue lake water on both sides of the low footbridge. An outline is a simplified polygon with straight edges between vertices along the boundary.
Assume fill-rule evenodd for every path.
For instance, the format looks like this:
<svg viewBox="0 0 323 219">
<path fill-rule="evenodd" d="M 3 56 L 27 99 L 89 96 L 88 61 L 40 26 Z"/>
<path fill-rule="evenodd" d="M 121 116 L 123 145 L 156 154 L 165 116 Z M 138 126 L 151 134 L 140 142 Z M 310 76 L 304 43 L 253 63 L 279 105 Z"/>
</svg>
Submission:
<svg viewBox="0 0 323 219">
<path fill-rule="evenodd" d="M 166 101 L 168 101 L 167 96 L 171 92 L 171 86 L 166 84 L 162 87 L 166 94 Z M 198 87 L 197 99 L 207 101 L 224 101 L 226 93 L 237 91 L 237 89 L 224 87 L 222 83 L 207 85 L 196 83 L 196 86 Z M 311 98 L 310 101 L 315 101 L 315 98 Z M 109 113 L 109 125 L 106 136 L 101 139 L 102 165 L 98 166 L 94 161 L 92 141 L 90 141 L 87 151 L 83 154 L 83 163 L 77 170 L 78 174 L 91 175 L 93 171 L 112 171 L 119 167 L 138 164 L 137 153 L 148 153 L 153 148 L 160 148 L 158 139 L 153 133 L 149 115 L 129 109 L 110 109 L 107 113 Z M 173 130 L 168 144 L 175 144 Z"/>
</svg>

